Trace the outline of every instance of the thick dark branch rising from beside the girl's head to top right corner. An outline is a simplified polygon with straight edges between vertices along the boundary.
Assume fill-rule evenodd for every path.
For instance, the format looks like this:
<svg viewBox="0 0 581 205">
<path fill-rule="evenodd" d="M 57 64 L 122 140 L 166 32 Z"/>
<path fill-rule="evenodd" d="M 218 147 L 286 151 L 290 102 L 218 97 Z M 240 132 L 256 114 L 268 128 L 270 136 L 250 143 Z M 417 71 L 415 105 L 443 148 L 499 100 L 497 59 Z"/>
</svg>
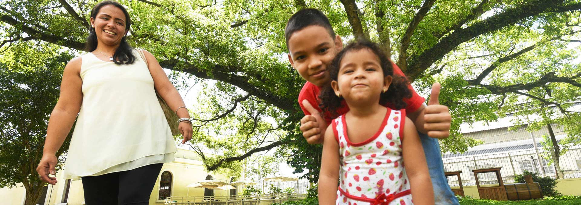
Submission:
<svg viewBox="0 0 581 205">
<path fill-rule="evenodd" d="M 455 49 L 460 43 L 469 41 L 476 36 L 500 30 L 508 25 L 512 25 L 525 19 L 526 17 L 555 10 L 562 7 L 562 1 L 556 0 L 536 0 L 523 3 L 518 8 L 505 10 L 503 13 L 496 14 L 486 20 L 472 24 L 471 26 L 456 30 L 452 34 L 442 38 L 440 42 L 433 47 L 424 50 L 424 52 L 414 55 L 408 63 L 406 75 L 409 79 L 414 80 L 429 68 L 436 60 L 442 58 L 445 54 Z M 569 10 L 581 9 L 581 2 L 566 7 Z M 565 12 L 566 10 L 562 10 Z"/>
</svg>

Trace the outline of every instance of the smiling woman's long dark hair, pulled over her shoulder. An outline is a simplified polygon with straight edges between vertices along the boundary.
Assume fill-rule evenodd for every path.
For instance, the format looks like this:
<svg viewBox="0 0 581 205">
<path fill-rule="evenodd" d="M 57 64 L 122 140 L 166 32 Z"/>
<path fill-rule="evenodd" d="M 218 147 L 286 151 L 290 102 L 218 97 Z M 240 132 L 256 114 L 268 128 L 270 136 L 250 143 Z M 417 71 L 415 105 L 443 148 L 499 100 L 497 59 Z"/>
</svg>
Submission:
<svg viewBox="0 0 581 205">
<path fill-rule="evenodd" d="M 127 13 L 127 10 L 125 10 L 123 5 L 121 5 L 118 2 L 102 1 L 97 3 L 97 5 L 93 7 L 93 10 L 91 10 L 91 17 L 95 19 L 95 17 L 99 13 L 99 10 L 101 10 L 101 8 L 106 5 L 113 5 L 123 11 L 123 13 L 125 14 L 125 31 L 129 30 L 129 28 L 131 27 L 131 19 L 129 17 L 129 13 Z M 123 38 L 121 38 L 119 47 L 117 47 L 117 50 L 113 54 L 113 63 L 117 65 L 133 64 L 135 62 L 135 56 L 133 55 L 133 53 L 131 53 L 131 50 L 133 50 L 133 48 L 129 45 L 129 43 L 127 43 L 127 39 L 125 38 L 127 38 L 127 36 L 123 36 Z M 91 27 L 89 28 L 89 36 L 87 36 L 87 41 L 85 42 L 85 51 L 93 52 L 95 49 L 97 49 L 97 34 L 95 33 L 95 28 Z"/>
</svg>

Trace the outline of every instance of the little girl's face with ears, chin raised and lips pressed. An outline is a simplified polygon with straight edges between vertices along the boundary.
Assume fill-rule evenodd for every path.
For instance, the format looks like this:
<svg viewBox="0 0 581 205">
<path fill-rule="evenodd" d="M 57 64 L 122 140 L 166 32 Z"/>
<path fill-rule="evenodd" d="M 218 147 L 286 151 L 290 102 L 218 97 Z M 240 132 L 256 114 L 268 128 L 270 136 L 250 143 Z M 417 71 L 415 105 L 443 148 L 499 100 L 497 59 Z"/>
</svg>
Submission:
<svg viewBox="0 0 581 205">
<path fill-rule="evenodd" d="M 365 103 L 379 102 L 379 96 L 391 82 L 392 76 L 383 76 L 379 57 L 370 49 L 360 49 L 345 53 L 339 63 L 337 81 L 333 80 L 331 86 L 347 102 Z"/>
</svg>

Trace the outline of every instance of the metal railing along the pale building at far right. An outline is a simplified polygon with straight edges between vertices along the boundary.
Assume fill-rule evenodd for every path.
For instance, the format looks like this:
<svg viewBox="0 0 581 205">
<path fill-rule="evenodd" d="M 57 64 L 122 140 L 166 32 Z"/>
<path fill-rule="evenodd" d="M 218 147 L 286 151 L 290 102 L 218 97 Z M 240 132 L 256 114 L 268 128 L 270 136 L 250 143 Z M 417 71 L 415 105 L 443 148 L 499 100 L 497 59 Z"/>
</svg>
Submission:
<svg viewBox="0 0 581 205">
<path fill-rule="evenodd" d="M 559 157 L 563 178 L 581 178 L 581 146 L 566 147 L 565 155 Z M 554 164 L 549 164 L 549 160 L 544 156 L 550 156 L 550 152 L 539 148 L 541 164 L 537 158 L 535 149 L 525 149 L 518 151 L 506 151 L 490 155 L 472 155 L 444 158 L 445 171 L 462 171 L 462 185 L 475 185 L 473 169 L 490 167 L 503 167 L 500 170 L 504 183 L 514 182 L 515 174 L 522 174 L 527 170 L 538 173 L 539 177 L 545 176 L 555 178 L 556 170 Z M 542 170 L 541 170 L 542 169 Z M 480 184 L 498 184 L 496 175 L 481 173 L 478 174 Z M 450 186 L 458 186 L 456 177 L 449 177 Z"/>
</svg>

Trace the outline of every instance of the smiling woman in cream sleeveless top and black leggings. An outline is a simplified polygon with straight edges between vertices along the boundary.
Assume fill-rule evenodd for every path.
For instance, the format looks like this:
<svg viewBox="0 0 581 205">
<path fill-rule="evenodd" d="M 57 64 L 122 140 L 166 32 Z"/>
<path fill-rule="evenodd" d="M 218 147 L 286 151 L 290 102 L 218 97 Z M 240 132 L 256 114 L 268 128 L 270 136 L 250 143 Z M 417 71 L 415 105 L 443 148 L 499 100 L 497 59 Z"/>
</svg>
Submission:
<svg viewBox="0 0 581 205">
<path fill-rule="evenodd" d="M 55 152 L 79 114 L 64 178 L 82 179 L 87 205 L 149 203 L 163 163 L 173 162 L 176 151 L 155 91 L 180 117 L 182 143 L 192 138 L 188 109 L 156 58 L 143 51 L 143 59 L 128 45 L 130 25 L 127 10 L 117 2 L 103 1 L 92 9 L 89 53 L 64 68 L 37 167 L 42 181 L 56 184 L 49 176 L 55 174 Z"/>
</svg>

